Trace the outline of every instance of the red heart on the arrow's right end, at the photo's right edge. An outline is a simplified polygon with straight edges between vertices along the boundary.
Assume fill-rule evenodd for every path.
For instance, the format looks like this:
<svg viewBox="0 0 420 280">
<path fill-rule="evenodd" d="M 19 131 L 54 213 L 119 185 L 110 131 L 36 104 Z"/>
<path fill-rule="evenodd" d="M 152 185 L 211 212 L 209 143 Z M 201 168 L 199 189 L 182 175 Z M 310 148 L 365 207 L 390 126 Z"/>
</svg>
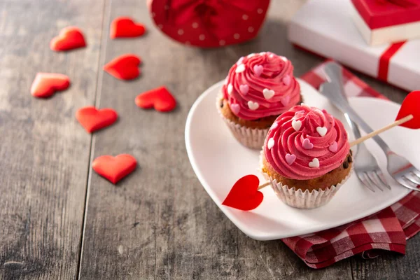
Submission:
<svg viewBox="0 0 420 280">
<path fill-rule="evenodd" d="M 410 92 L 401 104 L 395 120 L 400 120 L 408 115 L 413 115 L 414 118 L 408 122 L 402 123 L 400 126 L 412 129 L 420 128 L 420 90 Z"/>
</svg>

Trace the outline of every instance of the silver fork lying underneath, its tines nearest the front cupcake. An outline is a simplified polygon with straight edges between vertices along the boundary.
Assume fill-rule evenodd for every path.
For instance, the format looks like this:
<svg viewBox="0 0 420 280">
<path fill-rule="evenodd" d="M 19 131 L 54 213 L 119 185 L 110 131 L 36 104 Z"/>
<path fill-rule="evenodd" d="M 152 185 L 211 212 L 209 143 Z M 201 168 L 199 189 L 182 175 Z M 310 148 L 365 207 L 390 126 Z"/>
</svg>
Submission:
<svg viewBox="0 0 420 280">
<path fill-rule="evenodd" d="M 327 71 L 327 66 L 325 66 L 325 71 Z M 330 76 L 329 73 L 328 76 Z M 325 97 L 328 97 L 330 100 L 337 98 L 336 95 L 339 94 L 338 92 L 341 92 L 341 94 L 344 95 L 345 92 L 342 83 L 339 83 L 339 80 L 337 80 L 338 83 L 335 83 L 335 76 L 331 75 L 329 78 L 330 82 L 325 82 L 323 85 L 321 85 L 321 94 L 323 94 Z M 345 95 L 344 98 L 346 98 Z M 346 118 L 347 123 L 349 123 L 349 126 L 353 131 L 354 137 L 356 137 L 356 139 L 360 138 L 360 130 L 358 129 L 356 123 L 351 120 L 349 114 L 344 113 L 344 117 Z M 374 192 L 376 188 L 379 188 L 379 190 L 383 191 L 384 187 L 391 190 L 391 187 L 388 186 L 388 183 L 386 183 L 384 174 L 382 174 L 377 160 L 374 158 L 372 153 L 367 150 L 365 144 L 358 144 L 357 151 L 353 155 L 353 158 L 354 172 L 366 188 L 372 190 L 372 192 Z"/>
</svg>

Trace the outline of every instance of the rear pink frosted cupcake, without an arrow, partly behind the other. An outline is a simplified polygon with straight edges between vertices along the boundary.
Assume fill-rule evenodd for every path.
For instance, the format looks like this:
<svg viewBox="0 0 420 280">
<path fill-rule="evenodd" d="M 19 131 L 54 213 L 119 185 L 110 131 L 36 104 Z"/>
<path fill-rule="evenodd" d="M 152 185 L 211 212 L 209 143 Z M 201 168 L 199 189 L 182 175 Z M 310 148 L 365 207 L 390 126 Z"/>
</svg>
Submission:
<svg viewBox="0 0 420 280">
<path fill-rule="evenodd" d="M 259 149 L 274 120 L 301 99 L 291 62 L 260 52 L 241 57 L 230 68 L 216 106 L 235 138 Z"/>
</svg>

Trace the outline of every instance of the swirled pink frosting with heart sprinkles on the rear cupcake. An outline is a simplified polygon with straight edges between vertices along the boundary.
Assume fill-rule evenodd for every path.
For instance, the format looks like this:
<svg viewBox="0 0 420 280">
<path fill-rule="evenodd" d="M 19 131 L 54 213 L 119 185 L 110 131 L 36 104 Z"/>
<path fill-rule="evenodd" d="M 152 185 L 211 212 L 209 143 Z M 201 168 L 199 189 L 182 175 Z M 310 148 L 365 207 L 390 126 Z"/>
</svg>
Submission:
<svg viewBox="0 0 420 280">
<path fill-rule="evenodd" d="M 278 116 L 300 102 L 293 65 L 272 52 L 241 57 L 230 68 L 222 92 L 231 111 L 244 120 Z"/>
</svg>

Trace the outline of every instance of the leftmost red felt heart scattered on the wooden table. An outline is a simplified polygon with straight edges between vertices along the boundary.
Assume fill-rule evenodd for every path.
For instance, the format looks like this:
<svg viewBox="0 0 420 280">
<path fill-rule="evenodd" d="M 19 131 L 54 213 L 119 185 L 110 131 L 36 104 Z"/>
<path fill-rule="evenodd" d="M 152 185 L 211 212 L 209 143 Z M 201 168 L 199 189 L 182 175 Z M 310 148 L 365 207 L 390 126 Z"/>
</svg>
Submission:
<svg viewBox="0 0 420 280">
<path fill-rule="evenodd" d="M 34 97 L 50 97 L 54 92 L 66 90 L 70 85 L 70 78 L 59 73 L 37 73 L 31 85 Z"/>
</svg>

